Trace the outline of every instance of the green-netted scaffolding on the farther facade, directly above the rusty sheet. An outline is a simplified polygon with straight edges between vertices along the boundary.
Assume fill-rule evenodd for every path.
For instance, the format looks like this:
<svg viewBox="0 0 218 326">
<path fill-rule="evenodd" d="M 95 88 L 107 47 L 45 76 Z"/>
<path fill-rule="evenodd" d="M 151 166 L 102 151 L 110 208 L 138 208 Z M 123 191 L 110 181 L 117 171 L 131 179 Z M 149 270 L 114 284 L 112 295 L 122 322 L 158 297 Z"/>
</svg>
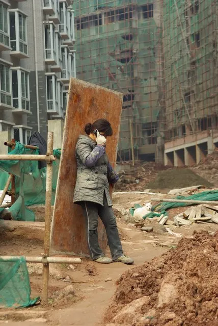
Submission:
<svg viewBox="0 0 218 326">
<path fill-rule="evenodd" d="M 153 160 L 162 96 L 159 2 L 81 0 L 74 9 L 77 77 L 124 94 L 118 159 L 132 158 L 133 143 L 136 159 Z"/>
</svg>

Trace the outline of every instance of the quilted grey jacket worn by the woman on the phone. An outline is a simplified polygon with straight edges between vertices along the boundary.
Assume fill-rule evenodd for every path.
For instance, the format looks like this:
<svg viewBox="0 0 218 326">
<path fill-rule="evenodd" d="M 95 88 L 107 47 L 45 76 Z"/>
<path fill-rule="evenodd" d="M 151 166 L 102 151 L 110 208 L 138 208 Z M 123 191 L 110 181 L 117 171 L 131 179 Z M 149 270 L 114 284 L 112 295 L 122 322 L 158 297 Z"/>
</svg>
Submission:
<svg viewBox="0 0 218 326">
<path fill-rule="evenodd" d="M 89 136 L 79 135 L 76 143 L 77 178 L 73 202 L 79 204 L 86 200 L 103 206 L 105 192 L 108 206 L 112 206 L 107 179 L 108 158 L 103 147 L 93 152 L 95 148 L 96 141 Z M 88 167 L 87 158 L 99 155 L 100 149 L 104 154 L 94 165 Z"/>
</svg>

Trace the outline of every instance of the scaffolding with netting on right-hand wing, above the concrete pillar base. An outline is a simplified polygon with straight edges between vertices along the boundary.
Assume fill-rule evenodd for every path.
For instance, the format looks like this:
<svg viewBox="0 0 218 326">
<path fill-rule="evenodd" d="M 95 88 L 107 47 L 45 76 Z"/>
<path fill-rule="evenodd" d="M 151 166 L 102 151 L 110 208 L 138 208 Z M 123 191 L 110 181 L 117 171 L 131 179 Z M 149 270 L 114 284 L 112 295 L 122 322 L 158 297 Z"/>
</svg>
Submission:
<svg viewBox="0 0 218 326">
<path fill-rule="evenodd" d="M 217 129 L 217 6 L 215 0 L 163 3 L 166 141 Z"/>
</svg>

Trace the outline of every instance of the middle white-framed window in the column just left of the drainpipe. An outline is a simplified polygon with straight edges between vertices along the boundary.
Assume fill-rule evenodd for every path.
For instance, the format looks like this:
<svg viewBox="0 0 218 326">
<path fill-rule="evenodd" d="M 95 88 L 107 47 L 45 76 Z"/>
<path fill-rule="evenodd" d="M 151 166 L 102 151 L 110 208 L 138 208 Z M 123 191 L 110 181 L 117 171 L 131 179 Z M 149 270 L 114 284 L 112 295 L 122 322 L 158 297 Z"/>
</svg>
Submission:
<svg viewBox="0 0 218 326">
<path fill-rule="evenodd" d="M 12 68 L 13 107 L 30 111 L 29 72 L 20 68 Z"/>
</svg>

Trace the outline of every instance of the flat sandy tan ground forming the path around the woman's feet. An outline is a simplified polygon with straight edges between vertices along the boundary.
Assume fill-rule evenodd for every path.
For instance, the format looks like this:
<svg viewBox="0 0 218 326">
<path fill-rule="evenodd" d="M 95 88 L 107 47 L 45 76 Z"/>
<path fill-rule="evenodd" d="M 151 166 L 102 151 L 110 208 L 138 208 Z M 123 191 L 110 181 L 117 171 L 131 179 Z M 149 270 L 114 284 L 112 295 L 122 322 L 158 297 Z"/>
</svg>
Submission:
<svg viewBox="0 0 218 326">
<path fill-rule="evenodd" d="M 150 196 L 145 197 L 139 194 L 114 195 L 114 204 L 127 209 L 134 203 L 142 204 L 149 199 Z M 175 211 L 171 210 L 170 216 L 182 210 L 181 208 L 175 209 Z M 169 248 L 175 247 L 180 239 L 163 232 L 158 224 L 154 224 L 154 231 L 151 233 L 137 230 L 121 220 L 118 220 L 118 228 L 124 252 L 134 258 L 133 266 L 121 263 L 102 265 L 86 259 L 83 259 L 81 265 L 74 265 L 74 270 L 67 264 L 50 265 L 49 303 L 16 311 L 1 309 L 0 323 L 7 325 L 103 325 L 103 314 L 110 304 L 110 299 L 117 287 L 116 280 L 121 274 L 127 269 L 139 266 L 145 261 L 151 261 L 154 257 L 159 257 Z M 218 224 L 193 224 L 180 228 L 175 227 L 172 230 L 180 233 L 183 237 L 190 237 L 194 230 L 215 232 L 217 229 Z M 30 234 L 27 232 L 28 236 L 19 233 L 12 236 L 13 233 L 10 233 L 9 237 L 8 234 L 1 235 L 0 253 L 2 255 L 26 253 L 29 256 L 41 255 L 43 242 L 34 232 Z M 40 264 L 29 264 L 28 267 L 32 297 L 36 297 L 41 294 L 42 268 Z M 107 278 L 112 280 L 105 282 Z M 73 286 L 75 296 L 60 298 L 61 291 L 68 285 Z M 25 321 L 31 318 L 44 318 L 44 320 Z"/>
</svg>

